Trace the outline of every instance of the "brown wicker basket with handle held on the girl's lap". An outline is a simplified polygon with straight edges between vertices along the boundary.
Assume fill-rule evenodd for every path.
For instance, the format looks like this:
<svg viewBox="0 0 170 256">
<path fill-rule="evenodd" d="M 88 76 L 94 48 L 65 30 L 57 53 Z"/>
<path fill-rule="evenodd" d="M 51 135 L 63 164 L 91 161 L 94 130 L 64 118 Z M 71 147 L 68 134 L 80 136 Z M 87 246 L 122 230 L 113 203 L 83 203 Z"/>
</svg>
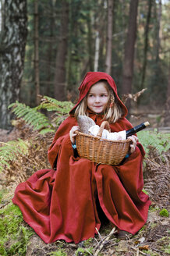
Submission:
<svg viewBox="0 0 170 256">
<path fill-rule="evenodd" d="M 119 165 L 129 151 L 131 140 L 106 140 L 101 139 L 103 130 L 109 130 L 107 121 L 101 123 L 97 137 L 77 131 L 76 148 L 80 158 L 104 165 Z"/>
</svg>

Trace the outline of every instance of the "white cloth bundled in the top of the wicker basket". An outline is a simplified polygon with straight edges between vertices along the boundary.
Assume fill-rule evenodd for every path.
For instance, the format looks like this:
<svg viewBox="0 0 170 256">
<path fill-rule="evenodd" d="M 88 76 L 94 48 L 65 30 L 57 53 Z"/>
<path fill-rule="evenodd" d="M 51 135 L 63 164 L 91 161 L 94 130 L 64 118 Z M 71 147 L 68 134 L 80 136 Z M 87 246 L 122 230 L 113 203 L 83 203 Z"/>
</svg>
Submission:
<svg viewBox="0 0 170 256">
<path fill-rule="evenodd" d="M 91 126 L 88 131 L 90 135 L 97 136 L 99 129 L 100 127 L 95 125 Z M 119 133 L 109 133 L 108 130 L 104 129 L 101 138 L 107 140 L 126 140 L 126 130 L 122 130 Z"/>
</svg>

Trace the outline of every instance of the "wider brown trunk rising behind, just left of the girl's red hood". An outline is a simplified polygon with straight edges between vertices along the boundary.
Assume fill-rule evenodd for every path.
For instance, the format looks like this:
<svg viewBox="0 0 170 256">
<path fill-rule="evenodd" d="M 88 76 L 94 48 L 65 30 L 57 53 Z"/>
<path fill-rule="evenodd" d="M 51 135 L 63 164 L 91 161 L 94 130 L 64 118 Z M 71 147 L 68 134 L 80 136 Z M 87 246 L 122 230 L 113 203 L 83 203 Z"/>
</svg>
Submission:
<svg viewBox="0 0 170 256">
<path fill-rule="evenodd" d="M 69 26 L 69 2 L 62 0 L 62 17 L 55 68 L 55 98 L 66 100 L 66 55 Z"/>
</svg>

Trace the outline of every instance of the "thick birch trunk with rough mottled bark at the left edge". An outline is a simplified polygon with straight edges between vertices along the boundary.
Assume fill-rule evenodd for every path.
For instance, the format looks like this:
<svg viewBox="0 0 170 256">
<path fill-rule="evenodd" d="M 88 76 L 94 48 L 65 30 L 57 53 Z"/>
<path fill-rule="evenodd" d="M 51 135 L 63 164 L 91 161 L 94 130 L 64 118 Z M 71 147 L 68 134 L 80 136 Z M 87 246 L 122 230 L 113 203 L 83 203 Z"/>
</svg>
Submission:
<svg viewBox="0 0 170 256">
<path fill-rule="evenodd" d="M 9 129 L 9 104 L 19 100 L 27 41 L 27 0 L 8 0 L 3 5 L 0 34 L 0 127 Z"/>
</svg>

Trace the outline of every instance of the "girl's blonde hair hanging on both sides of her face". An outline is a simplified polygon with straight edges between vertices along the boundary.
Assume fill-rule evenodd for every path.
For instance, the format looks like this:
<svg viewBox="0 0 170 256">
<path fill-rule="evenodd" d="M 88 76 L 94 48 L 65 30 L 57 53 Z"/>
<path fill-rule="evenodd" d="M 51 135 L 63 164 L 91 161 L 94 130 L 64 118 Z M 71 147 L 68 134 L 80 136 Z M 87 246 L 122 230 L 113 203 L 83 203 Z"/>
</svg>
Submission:
<svg viewBox="0 0 170 256">
<path fill-rule="evenodd" d="M 119 118 L 122 117 L 122 108 L 118 104 L 117 98 L 115 97 L 113 89 L 109 86 L 108 82 L 106 80 L 100 80 L 100 82 L 104 82 L 106 85 L 108 94 L 109 94 L 109 101 L 108 101 L 108 107 L 104 111 L 104 120 L 108 121 L 108 123 L 115 123 Z M 99 82 L 99 81 L 98 81 Z M 80 101 L 80 104 L 76 107 L 74 116 L 77 118 L 77 116 L 89 116 L 87 112 L 87 96 L 88 94 L 83 98 L 82 101 Z M 114 99 L 114 102 L 113 102 Z M 113 103 L 112 107 L 110 107 L 110 103 Z"/>
</svg>

